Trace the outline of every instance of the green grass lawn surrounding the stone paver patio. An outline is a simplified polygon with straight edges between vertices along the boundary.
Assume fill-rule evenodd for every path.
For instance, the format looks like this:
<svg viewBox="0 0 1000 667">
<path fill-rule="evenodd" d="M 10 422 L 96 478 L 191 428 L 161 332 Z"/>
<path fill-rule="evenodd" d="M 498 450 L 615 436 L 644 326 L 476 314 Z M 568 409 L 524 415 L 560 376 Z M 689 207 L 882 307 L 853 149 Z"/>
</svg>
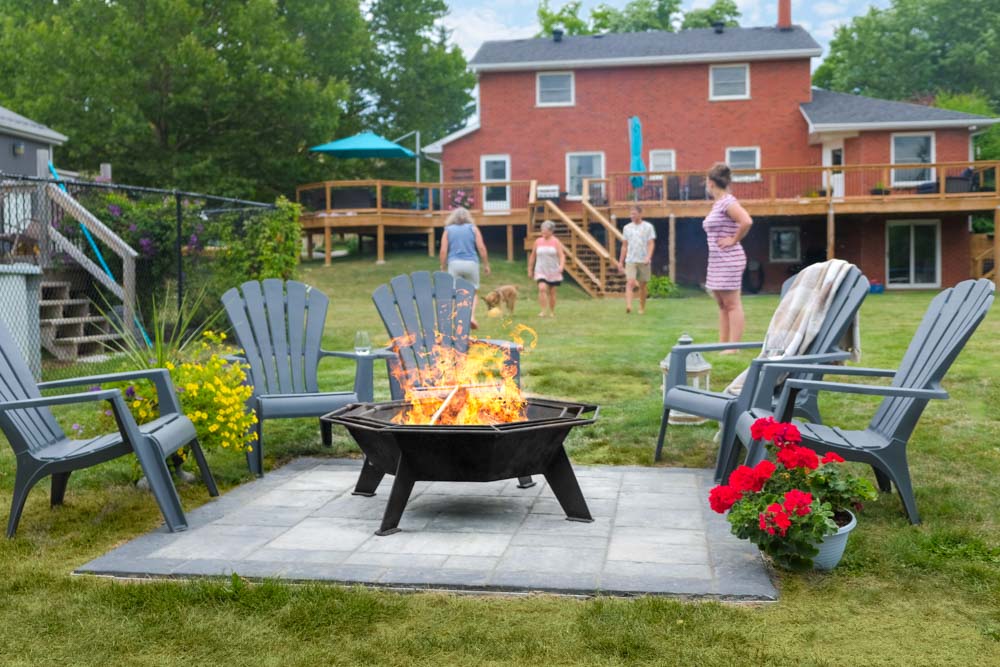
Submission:
<svg viewBox="0 0 1000 667">
<path fill-rule="evenodd" d="M 395 274 L 433 269 L 419 254 L 310 263 L 302 279 L 332 308 L 326 347 L 347 349 L 358 329 L 384 330 L 370 293 Z M 555 320 L 536 317 L 523 262 L 496 261 L 484 287 L 515 283 L 514 322 L 538 333 L 522 362 L 529 392 L 601 405 L 577 429 L 577 463 L 652 465 L 660 415 L 658 363 L 682 332 L 711 342 L 714 303 L 703 294 L 657 300 L 626 316 L 621 300 L 560 288 Z M 873 295 L 862 308 L 863 364 L 895 367 L 932 294 Z M 759 339 L 777 303 L 745 300 L 747 339 Z M 505 337 L 480 312 L 483 336 Z M 74 474 L 66 505 L 33 492 L 14 540 L 0 539 L 0 664 L 12 665 L 987 665 L 1000 664 L 1000 310 L 952 368 L 951 400 L 934 402 L 910 442 L 924 523 L 910 526 L 895 495 L 859 517 L 841 566 L 826 575 L 778 574 L 781 599 L 741 605 L 655 598 L 576 600 L 552 596 L 397 594 L 336 586 L 210 582 L 115 583 L 71 577 L 80 564 L 160 523 L 153 499 L 135 490 L 121 460 Z M 711 355 L 722 387 L 750 354 Z M 348 387 L 352 368 L 330 360 L 321 386 Z M 76 368 L 77 374 L 90 372 Z M 387 396 L 384 373 L 376 392 Z M 875 401 L 824 399 L 827 420 L 859 427 Z M 67 418 L 72 418 L 72 415 Z M 708 467 L 711 426 L 672 427 L 663 465 Z M 268 426 L 268 466 L 328 455 L 315 421 Z M 344 432 L 333 455 L 357 456 Z M 209 460 L 220 485 L 249 479 L 231 452 Z M 0 447 L 0 516 L 6 519 L 14 458 Z M 182 489 L 188 508 L 207 500 Z"/>
</svg>

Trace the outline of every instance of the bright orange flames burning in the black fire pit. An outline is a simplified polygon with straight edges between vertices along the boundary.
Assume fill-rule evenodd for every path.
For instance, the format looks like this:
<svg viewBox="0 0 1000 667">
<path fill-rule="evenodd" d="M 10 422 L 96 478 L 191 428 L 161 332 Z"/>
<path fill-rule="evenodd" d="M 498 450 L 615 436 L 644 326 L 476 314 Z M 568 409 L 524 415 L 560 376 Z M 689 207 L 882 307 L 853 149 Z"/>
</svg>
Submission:
<svg viewBox="0 0 1000 667">
<path fill-rule="evenodd" d="M 525 344 L 526 336 L 530 336 Z M 519 325 L 511 336 L 519 345 L 535 347 L 535 332 Z M 393 374 L 411 407 L 397 415 L 397 424 L 490 425 L 524 421 L 527 402 L 507 365 L 502 348 L 470 340 L 468 352 L 435 345 L 432 353 L 420 355 L 413 340 L 392 341 L 393 349 L 409 348 L 420 356 L 417 369 L 397 368 Z"/>
</svg>

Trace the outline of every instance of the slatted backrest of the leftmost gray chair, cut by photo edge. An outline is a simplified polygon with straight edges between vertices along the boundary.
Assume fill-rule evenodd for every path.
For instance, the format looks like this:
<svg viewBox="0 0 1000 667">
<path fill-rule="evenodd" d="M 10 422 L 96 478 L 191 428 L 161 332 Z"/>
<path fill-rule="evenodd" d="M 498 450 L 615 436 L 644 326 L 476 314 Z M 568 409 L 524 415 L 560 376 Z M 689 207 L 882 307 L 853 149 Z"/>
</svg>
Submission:
<svg viewBox="0 0 1000 667">
<path fill-rule="evenodd" d="M 0 402 L 40 396 L 38 384 L 24 360 L 21 348 L 7 326 L 0 322 Z M 37 452 L 66 437 L 48 408 L 0 413 L 0 428 L 15 454 Z"/>
</svg>

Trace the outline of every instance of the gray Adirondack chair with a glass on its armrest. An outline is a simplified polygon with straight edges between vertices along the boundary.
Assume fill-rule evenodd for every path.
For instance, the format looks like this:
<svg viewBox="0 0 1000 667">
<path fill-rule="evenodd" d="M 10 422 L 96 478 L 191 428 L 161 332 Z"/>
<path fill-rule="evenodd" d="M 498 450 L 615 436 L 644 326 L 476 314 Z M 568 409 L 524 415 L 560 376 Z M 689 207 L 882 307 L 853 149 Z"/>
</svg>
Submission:
<svg viewBox="0 0 1000 667">
<path fill-rule="evenodd" d="M 258 477 L 264 474 L 265 420 L 321 417 L 348 403 L 373 399 L 374 360 L 386 355 L 321 349 L 329 303 L 319 290 L 294 280 L 251 280 L 222 295 L 243 350 L 233 360 L 250 367 L 248 407 L 257 414 L 257 442 L 247 463 Z M 319 390 L 317 367 L 326 357 L 354 360 L 354 391 Z M 332 444 L 331 425 L 320 422 L 320 431 L 323 444 Z"/>
</svg>

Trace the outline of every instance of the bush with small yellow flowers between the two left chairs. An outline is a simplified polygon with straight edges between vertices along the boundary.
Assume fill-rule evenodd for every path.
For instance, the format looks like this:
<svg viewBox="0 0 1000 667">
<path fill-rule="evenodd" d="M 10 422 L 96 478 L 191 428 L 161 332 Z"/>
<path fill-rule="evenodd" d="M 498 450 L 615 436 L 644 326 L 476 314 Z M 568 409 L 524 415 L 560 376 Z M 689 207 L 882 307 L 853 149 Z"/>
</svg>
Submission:
<svg viewBox="0 0 1000 667">
<path fill-rule="evenodd" d="M 253 387 L 245 384 L 242 366 L 220 356 L 233 351 L 225 347 L 225 339 L 224 333 L 205 331 L 200 344 L 189 346 L 180 355 L 182 360 L 168 361 L 164 367 L 170 371 L 181 409 L 194 422 L 203 448 L 251 451 L 257 417 L 244 406 Z M 137 423 L 144 424 L 160 416 L 152 383 L 119 386 Z M 105 432 L 115 429 L 110 410 L 102 411 L 101 420 Z"/>
</svg>

